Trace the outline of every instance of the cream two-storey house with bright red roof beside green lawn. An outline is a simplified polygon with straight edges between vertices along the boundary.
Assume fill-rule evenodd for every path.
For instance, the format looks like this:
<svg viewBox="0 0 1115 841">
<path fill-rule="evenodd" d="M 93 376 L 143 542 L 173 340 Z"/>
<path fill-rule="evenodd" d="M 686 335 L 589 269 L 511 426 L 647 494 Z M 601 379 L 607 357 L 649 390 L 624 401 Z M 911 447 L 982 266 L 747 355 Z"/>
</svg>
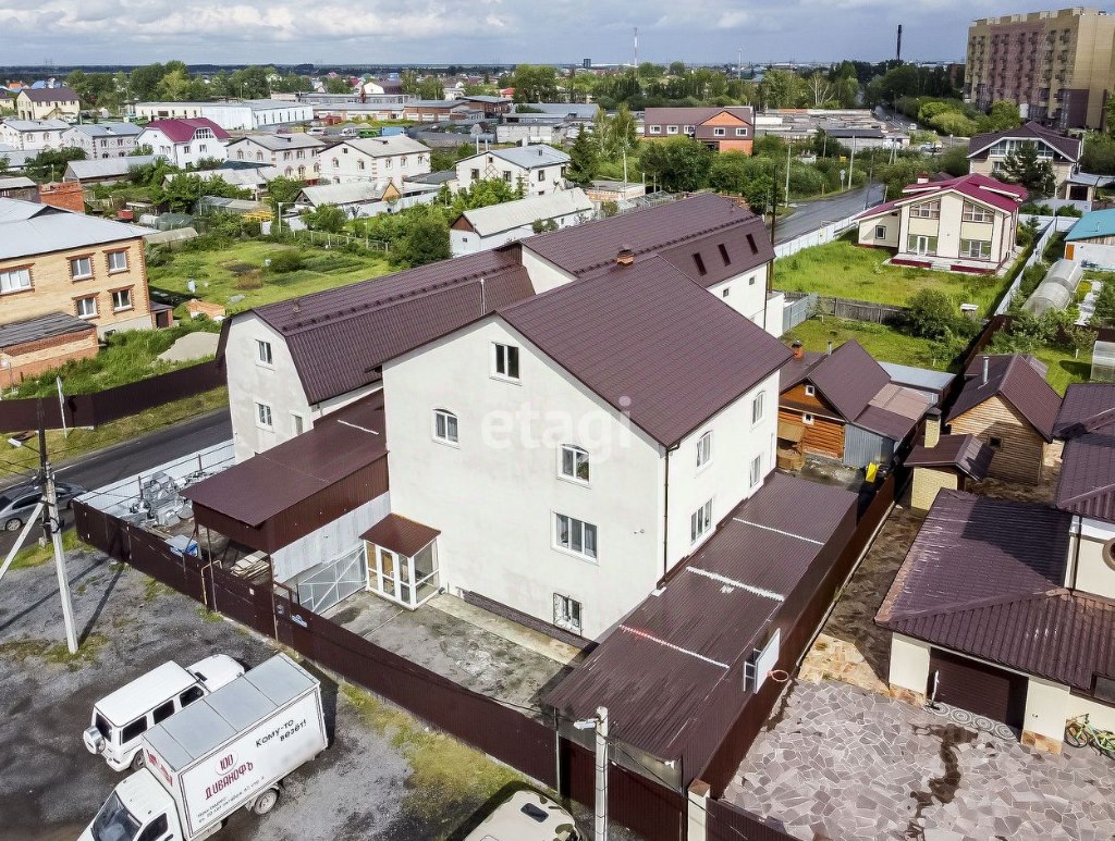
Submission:
<svg viewBox="0 0 1115 841">
<path fill-rule="evenodd" d="M 894 263 L 946 272 L 996 272 L 1010 257 L 1026 189 L 986 175 L 921 176 L 902 197 L 861 213 L 860 245 L 889 248 Z"/>
</svg>

